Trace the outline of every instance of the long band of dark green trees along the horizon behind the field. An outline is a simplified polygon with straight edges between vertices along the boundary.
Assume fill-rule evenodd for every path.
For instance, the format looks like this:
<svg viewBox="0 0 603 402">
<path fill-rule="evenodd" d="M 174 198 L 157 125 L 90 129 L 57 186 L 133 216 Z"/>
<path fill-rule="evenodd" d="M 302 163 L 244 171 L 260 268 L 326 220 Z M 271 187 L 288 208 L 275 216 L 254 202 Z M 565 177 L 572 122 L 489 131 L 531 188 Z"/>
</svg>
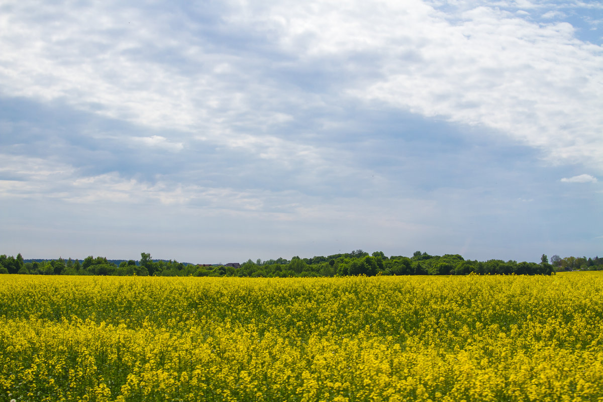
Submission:
<svg viewBox="0 0 603 402">
<path fill-rule="evenodd" d="M 362 250 L 311 259 L 248 260 L 245 263 L 207 265 L 175 260 L 153 260 L 150 253 L 140 253 L 140 260 L 107 260 L 88 256 L 83 261 L 24 260 L 0 256 L 0 274 L 32 275 L 138 275 L 197 277 L 333 277 L 346 275 L 551 275 L 556 271 L 603 270 L 603 258 L 566 257 L 543 254 L 540 263 L 513 260 L 465 260 L 458 254 L 430 256 L 415 251 L 412 257 L 385 256 L 382 251 L 368 254 Z"/>
</svg>

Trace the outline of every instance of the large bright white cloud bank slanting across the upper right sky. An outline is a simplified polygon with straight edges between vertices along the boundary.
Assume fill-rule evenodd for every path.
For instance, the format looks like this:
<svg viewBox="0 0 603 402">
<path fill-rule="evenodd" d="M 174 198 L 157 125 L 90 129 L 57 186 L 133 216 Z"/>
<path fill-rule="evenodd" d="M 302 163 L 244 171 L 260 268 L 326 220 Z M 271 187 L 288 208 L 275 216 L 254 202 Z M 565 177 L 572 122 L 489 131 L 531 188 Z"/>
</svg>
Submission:
<svg viewBox="0 0 603 402">
<path fill-rule="evenodd" d="M 485 6 L 449 22 L 452 15 L 418 1 L 286 3 L 269 14 L 286 20 L 274 27 L 291 52 L 370 55 L 374 78 L 350 81 L 349 95 L 494 129 L 543 149 L 550 163 L 603 166 L 603 52 L 576 40 L 570 24 L 541 26 Z M 346 61 L 342 69 L 354 68 Z"/>
</svg>

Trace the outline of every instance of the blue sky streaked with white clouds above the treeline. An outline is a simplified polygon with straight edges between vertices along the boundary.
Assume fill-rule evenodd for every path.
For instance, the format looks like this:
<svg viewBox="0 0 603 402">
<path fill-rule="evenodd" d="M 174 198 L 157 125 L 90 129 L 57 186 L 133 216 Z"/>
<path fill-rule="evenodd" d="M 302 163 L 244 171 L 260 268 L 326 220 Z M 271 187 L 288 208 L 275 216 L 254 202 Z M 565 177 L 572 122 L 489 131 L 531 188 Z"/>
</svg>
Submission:
<svg viewBox="0 0 603 402">
<path fill-rule="evenodd" d="M 0 0 L 0 253 L 603 256 L 600 1 Z"/>
</svg>

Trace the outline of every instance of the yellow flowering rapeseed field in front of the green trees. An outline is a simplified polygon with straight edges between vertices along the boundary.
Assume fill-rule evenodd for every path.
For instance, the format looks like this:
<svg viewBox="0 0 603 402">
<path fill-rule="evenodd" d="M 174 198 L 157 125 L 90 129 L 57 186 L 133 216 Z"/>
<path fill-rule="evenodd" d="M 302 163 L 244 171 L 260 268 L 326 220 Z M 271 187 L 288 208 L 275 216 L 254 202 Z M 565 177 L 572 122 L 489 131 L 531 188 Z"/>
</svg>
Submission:
<svg viewBox="0 0 603 402">
<path fill-rule="evenodd" d="M 0 275 L 0 401 L 603 401 L 603 275 Z"/>
</svg>

